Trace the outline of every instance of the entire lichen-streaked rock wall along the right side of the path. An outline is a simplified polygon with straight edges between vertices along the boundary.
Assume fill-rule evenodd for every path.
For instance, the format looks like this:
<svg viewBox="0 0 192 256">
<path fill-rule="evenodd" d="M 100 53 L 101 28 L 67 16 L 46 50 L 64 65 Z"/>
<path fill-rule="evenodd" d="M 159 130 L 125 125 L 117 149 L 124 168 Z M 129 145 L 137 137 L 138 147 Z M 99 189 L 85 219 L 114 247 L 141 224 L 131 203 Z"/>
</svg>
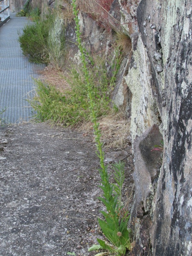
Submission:
<svg viewBox="0 0 192 256">
<path fill-rule="evenodd" d="M 127 4 L 126 9 L 121 2 L 125 20 L 130 22 L 130 8 Z M 138 27 L 135 23 L 131 26 L 133 32 L 138 29 L 139 35 L 137 45 L 133 41 L 125 81 L 132 93 L 131 133 L 135 145 L 136 183 L 132 221 L 141 255 L 148 255 L 150 237 L 153 255 L 192 253 L 191 11 L 190 0 L 142 0 L 137 7 Z M 130 31 L 130 26 L 127 29 Z M 117 91 L 115 99 L 124 96 L 120 83 Z M 144 149 L 139 147 L 144 139 L 135 140 L 153 124 L 159 125 L 164 141 L 163 164 L 157 183 L 152 176 L 146 181 L 144 169 L 149 174 L 150 170 L 143 157 Z M 148 209 L 150 196 L 151 209 Z M 137 253 L 135 250 L 135 255 Z"/>
</svg>

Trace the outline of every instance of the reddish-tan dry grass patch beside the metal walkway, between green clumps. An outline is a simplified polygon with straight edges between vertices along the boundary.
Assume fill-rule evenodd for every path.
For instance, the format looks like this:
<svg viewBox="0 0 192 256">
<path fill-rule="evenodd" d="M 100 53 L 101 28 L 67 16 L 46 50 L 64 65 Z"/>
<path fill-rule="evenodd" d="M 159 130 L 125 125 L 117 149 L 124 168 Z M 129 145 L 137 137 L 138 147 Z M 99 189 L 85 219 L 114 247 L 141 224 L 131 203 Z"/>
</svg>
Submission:
<svg viewBox="0 0 192 256">
<path fill-rule="evenodd" d="M 45 81 L 47 84 L 55 86 L 61 93 L 65 90 L 70 90 L 70 85 L 64 79 L 65 73 L 54 68 L 46 67 L 43 71 L 40 72 L 41 80 Z"/>
</svg>

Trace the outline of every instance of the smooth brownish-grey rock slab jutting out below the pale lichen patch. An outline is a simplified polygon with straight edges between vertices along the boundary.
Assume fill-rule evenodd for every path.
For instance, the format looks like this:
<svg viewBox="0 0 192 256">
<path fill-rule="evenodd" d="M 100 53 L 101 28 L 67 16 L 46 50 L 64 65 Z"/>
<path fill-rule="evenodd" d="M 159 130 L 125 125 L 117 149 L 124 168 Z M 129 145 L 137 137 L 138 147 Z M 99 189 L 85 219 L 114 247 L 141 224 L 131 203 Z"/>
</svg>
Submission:
<svg viewBox="0 0 192 256">
<path fill-rule="evenodd" d="M 144 255 L 149 250 L 149 229 L 152 220 L 152 200 L 159 176 L 158 165 L 162 151 L 153 150 L 154 145 L 159 145 L 163 139 L 157 125 L 148 128 L 134 141 L 135 156 L 135 195 L 134 205 L 131 212 L 132 229 L 136 237 L 140 238 L 140 250 L 145 248 Z M 137 253 L 137 248 L 134 248 Z"/>
</svg>

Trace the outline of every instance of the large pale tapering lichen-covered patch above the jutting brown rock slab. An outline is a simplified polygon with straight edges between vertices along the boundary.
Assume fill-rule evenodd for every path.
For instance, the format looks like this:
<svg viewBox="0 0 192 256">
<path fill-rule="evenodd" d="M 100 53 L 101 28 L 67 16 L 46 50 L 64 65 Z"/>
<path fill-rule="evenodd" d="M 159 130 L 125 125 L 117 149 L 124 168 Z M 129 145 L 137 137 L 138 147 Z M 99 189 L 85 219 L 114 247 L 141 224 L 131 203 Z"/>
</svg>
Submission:
<svg viewBox="0 0 192 256">
<path fill-rule="evenodd" d="M 146 128 L 157 124 L 154 107 L 155 102 L 151 93 L 151 73 L 146 49 L 141 37 L 138 38 L 137 50 L 134 51 L 134 61 L 137 68 L 131 68 L 125 81 L 132 93 L 131 103 L 131 136 L 142 134 Z"/>
</svg>

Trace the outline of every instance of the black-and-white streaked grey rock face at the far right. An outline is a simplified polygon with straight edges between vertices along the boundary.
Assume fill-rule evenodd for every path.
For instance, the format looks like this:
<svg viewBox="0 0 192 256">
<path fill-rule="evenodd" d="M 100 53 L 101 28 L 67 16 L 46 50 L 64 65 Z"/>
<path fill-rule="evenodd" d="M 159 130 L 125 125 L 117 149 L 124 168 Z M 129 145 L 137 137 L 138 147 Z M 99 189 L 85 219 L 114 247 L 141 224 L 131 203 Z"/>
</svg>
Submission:
<svg viewBox="0 0 192 256">
<path fill-rule="evenodd" d="M 152 24 L 160 25 L 160 30 L 151 29 L 147 23 L 146 35 L 142 27 L 148 15 Z M 191 3 L 142 0 L 137 20 L 143 44 L 148 48 L 164 139 L 151 225 L 153 255 L 191 255 Z M 156 51 L 162 52 L 162 60 L 153 58 Z M 155 68 L 158 65 L 162 70 Z"/>
</svg>

